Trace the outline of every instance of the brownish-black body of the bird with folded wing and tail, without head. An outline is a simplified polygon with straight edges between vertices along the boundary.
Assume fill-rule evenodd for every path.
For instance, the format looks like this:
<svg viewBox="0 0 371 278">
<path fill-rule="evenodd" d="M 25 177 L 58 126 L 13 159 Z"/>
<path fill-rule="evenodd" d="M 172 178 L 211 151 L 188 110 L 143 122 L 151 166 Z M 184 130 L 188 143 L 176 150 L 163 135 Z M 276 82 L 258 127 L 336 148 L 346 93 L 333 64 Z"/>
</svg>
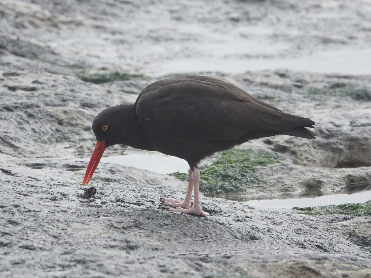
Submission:
<svg viewBox="0 0 371 278">
<path fill-rule="evenodd" d="M 315 124 L 312 120 L 284 113 L 237 86 L 206 76 L 152 83 L 138 96 L 135 112 L 160 152 L 173 145 L 174 154 L 167 154 L 184 159 L 278 134 L 316 136 L 305 128 Z"/>
</svg>

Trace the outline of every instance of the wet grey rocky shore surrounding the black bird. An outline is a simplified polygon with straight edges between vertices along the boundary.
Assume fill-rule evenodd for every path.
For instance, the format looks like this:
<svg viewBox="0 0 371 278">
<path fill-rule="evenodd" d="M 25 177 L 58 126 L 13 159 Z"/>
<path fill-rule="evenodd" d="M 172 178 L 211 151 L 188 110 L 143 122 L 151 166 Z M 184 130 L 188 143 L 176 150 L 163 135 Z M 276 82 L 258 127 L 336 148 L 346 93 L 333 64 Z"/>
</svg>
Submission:
<svg viewBox="0 0 371 278">
<path fill-rule="evenodd" d="M 0 276 L 371 277 L 370 216 L 204 196 L 209 217 L 170 213 L 159 199 L 185 183 L 112 163 L 79 197 L 95 115 L 180 73 L 315 120 L 316 140 L 239 146 L 282 158 L 242 195 L 366 190 L 352 185 L 371 181 L 370 40 L 369 1 L 1 1 Z M 78 78 L 114 71 L 147 78 Z"/>
</svg>

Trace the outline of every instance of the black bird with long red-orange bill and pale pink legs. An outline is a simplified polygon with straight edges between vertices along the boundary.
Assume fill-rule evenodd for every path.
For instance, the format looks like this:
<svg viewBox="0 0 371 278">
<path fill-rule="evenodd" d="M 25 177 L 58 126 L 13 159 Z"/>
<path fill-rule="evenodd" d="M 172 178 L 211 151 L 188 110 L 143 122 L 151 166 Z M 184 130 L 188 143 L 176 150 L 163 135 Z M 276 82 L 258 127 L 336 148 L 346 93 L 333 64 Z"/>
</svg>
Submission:
<svg viewBox="0 0 371 278">
<path fill-rule="evenodd" d="M 290 135 L 315 139 L 315 122 L 269 105 L 229 82 L 178 76 L 151 83 L 135 103 L 109 107 L 93 120 L 95 149 L 83 184 L 88 185 L 106 148 L 116 144 L 176 156 L 188 162 L 184 201 L 160 198 L 167 211 L 208 216 L 200 205 L 199 163 L 252 139 Z M 194 202 L 191 196 L 194 190 Z"/>
</svg>

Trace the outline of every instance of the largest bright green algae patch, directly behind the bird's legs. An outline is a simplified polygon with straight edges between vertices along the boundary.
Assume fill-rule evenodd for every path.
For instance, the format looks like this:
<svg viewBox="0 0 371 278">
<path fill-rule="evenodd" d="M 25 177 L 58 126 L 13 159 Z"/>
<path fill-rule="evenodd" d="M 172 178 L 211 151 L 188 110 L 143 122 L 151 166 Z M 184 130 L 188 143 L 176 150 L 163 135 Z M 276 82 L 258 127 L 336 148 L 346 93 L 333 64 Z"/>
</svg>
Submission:
<svg viewBox="0 0 371 278">
<path fill-rule="evenodd" d="M 200 190 L 206 196 L 216 196 L 224 193 L 243 192 L 252 184 L 261 184 L 254 172 L 256 166 L 266 166 L 280 161 L 279 156 L 251 149 L 230 149 L 212 165 L 200 167 Z M 188 174 L 170 174 L 183 181 L 188 180 Z"/>
</svg>

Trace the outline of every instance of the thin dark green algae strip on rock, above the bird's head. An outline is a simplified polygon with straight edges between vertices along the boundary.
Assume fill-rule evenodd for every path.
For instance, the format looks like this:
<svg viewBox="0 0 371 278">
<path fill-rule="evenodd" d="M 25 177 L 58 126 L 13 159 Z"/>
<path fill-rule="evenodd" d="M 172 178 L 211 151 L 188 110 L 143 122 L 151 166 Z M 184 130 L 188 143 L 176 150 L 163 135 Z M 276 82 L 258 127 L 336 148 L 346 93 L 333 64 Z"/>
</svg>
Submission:
<svg viewBox="0 0 371 278">
<path fill-rule="evenodd" d="M 137 80 L 137 79 L 148 79 L 149 77 L 143 74 L 131 74 L 125 72 L 108 72 L 108 73 L 93 73 L 90 75 L 78 75 L 78 77 L 86 82 L 94 84 L 108 83 L 115 80 Z"/>
</svg>

